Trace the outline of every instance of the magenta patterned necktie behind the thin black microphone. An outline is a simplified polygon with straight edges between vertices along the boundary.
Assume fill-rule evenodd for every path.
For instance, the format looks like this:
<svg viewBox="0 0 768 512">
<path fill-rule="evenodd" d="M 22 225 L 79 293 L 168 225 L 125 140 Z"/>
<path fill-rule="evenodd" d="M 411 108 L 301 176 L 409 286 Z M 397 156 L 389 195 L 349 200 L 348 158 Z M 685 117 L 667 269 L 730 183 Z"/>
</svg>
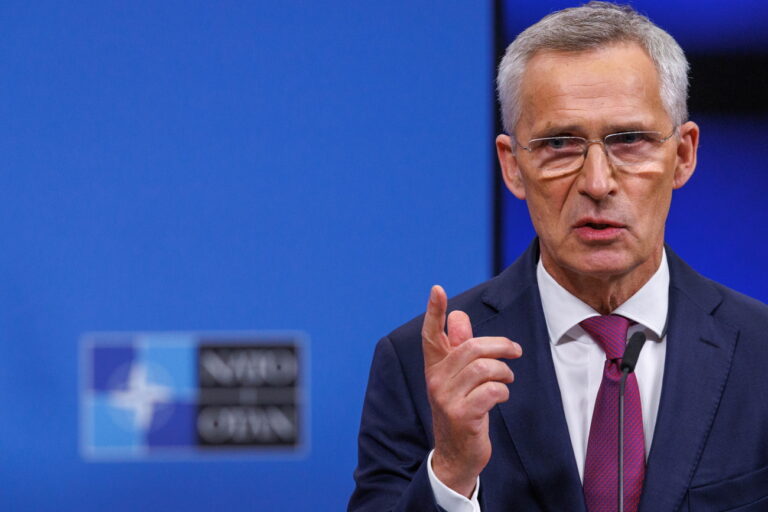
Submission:
<svg viewBox="0 0 768 512">
<path fill-rule="evenodd" d="M 603 381 L 597 392 L 584 464 L 584 497 L 589 512 L 618 510 L 619 381 L 621 356 L 630 321 L 603 315 L 579 324 L 605 351 Z M 631 373 L 624 392 L 624 510 L 636 512 L 645 477 L 643 413 L 637 378 Z"/>
</svg>

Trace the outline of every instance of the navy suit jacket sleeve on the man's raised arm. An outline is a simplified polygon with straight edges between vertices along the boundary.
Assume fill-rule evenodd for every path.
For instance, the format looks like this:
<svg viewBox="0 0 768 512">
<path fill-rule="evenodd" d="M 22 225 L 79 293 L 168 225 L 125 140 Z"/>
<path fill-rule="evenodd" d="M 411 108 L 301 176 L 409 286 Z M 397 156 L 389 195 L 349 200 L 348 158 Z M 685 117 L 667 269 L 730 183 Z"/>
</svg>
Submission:
<svg viewBox="0 0 768 512">
<path fill-rule="evenodd" d="M 418 414 L 424 408 L 416 407 L 413 397 L 395 347 L 383 338 L 376 346 L 363 405 L 349 511 L 441 510 L 426 467 L 431 422 Z"/>
</svg>

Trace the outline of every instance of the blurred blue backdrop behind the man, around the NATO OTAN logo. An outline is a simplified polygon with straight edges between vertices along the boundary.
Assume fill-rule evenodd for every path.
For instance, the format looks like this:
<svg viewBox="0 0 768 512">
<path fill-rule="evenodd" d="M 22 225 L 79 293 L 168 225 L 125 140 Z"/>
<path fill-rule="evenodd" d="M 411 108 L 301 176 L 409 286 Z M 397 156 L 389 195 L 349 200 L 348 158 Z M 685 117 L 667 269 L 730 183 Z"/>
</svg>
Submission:
<svg viewBox="0 0 768 512">
<path fill-rule="evenodd" d="M 530 243 L 499 51 L 565 2 L 0 3 L 0 509 L 341 510 L 376 341 Z M 634 2 L 689 54 L 672 247 L 768 300 L 768 9 Z M 92 331 L 299 331 L 300 452 L 81 455 Z"/>
</svg>

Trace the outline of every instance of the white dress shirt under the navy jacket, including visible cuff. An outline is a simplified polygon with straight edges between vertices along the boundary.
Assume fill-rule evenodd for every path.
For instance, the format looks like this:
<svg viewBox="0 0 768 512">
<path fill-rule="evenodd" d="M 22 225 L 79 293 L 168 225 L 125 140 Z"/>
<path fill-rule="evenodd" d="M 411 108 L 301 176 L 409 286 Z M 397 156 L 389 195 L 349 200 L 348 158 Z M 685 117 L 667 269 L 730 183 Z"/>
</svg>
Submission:
<svg viewBox="0 0 768 512">
<path fill-rule="evenodd" d="M 536 278 L 549 332 L 552 361 L 563 401 L 565 421 L 568 424 L 568 434 L 571 438 L 579 478 L 583 481 L 589 425 L 595 408 L 597 391 L 603 379 L 605 352 L 579 326 L 579 322 L 599 316 L 600 313 L 560 286 L 544 269 L 541 259 L 536 267 Z M 629 328 L 629 336 L 642 330 L 648 341 L 640 352 L 635 369 L 643 411 L 646 459 L 653 439 L 661 397 L 664 356 L 667 350 L 665 331 L 668 306 L 669 267 L 665 251 L 653 277 L 612 312 L 614 315 L 622 315 L 636 322 Z M 522 357 L 525 357 L 525 353 Z M 514 384 L 511 392 L 515 392 Z M 427 471 L 437 504 L 447 512 L 480 512 L 477 499 L 480 490 L 479 478 L 471 498 L 467 499 L 437 479 L 432 471 L 431 452 L 427 459 Z"/>
</svg>

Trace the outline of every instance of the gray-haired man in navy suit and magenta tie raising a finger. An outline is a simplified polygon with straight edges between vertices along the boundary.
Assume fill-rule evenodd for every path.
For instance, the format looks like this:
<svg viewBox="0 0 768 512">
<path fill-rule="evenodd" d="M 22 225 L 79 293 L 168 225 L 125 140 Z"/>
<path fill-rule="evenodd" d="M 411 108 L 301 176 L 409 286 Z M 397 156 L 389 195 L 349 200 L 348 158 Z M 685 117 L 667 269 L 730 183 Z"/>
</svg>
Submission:
<svg viewBox="0 0 768 512">
<path fill-rule="evenodd" d="M 768 510 L 768 307 L 664 245 L 696 166 L 687 71 L 671 36 L 603 2 L 509 46 L 496 146 L 538 237 L 379 342 L 350 510 Z"/>
</svg>

